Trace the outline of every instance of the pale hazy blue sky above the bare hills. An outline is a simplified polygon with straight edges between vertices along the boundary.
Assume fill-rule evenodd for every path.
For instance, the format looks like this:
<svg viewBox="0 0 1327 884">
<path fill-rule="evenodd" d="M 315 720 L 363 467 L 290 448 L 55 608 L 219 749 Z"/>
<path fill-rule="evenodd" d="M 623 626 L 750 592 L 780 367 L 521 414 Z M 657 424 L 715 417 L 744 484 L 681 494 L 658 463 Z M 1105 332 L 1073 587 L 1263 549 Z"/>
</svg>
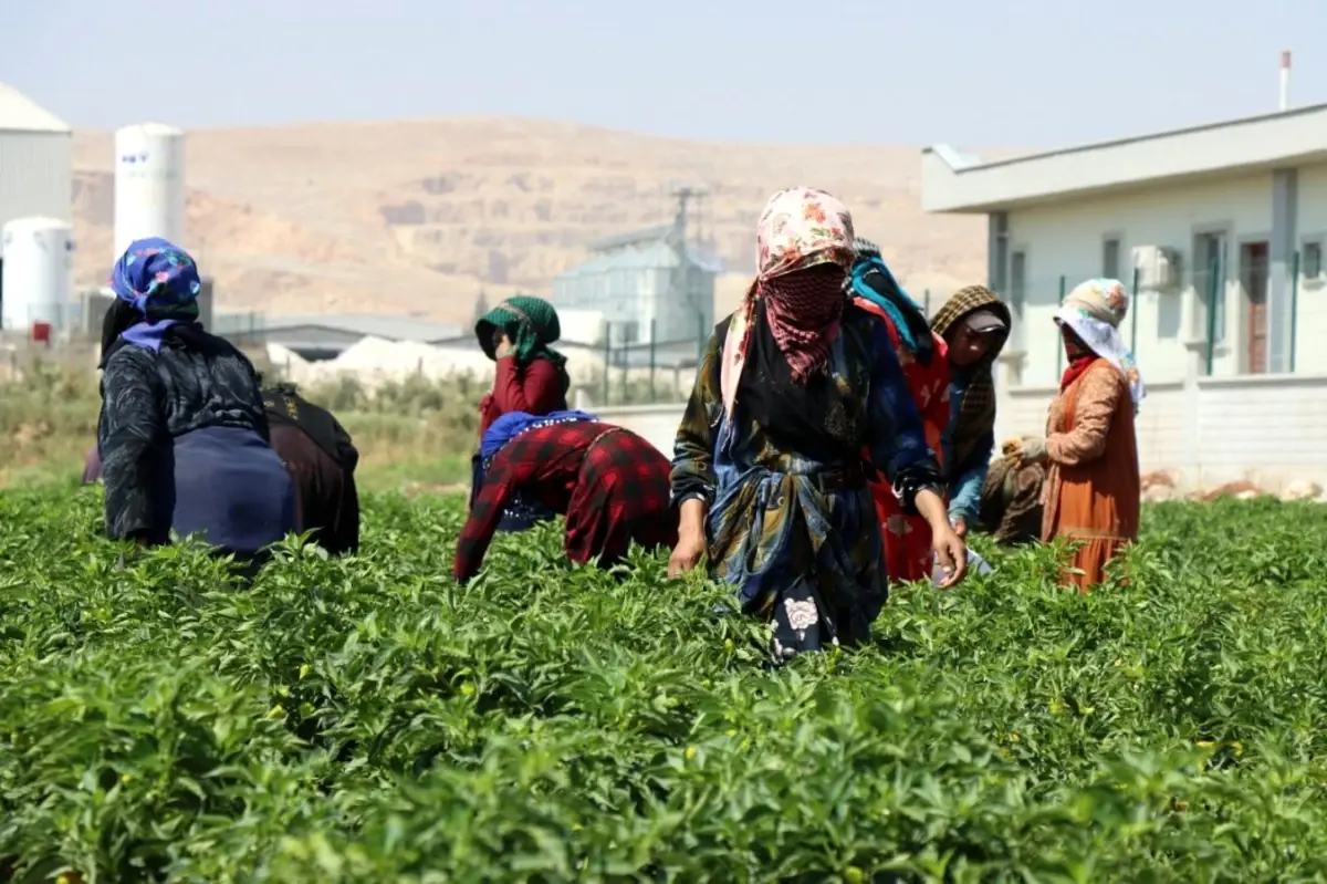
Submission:
<svg viewBox="0 0 1327 884">
<path fill-rule="evenodd" d="M 714 141 L 1052 147 L 1327 101 L 1324 0 L 0 0 L 74 127 L 519 115 Z"/>
</svg>

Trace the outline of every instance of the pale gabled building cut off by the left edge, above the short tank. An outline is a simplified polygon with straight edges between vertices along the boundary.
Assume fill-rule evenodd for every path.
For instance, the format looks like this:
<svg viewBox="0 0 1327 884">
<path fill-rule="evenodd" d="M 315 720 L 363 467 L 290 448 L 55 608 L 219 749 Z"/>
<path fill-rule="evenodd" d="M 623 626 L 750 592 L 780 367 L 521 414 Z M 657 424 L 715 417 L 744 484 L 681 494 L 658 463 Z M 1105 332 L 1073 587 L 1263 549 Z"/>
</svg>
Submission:
<svg viewBox="0 0 1327 884">
<path fill-rule="evenodd" d="M 0 227 L 19 218 L 70 223 L 72 200 L 72 130 L 0 82 Z M 3 250 L 0 244 L 0 261 Z"/>
</svg>

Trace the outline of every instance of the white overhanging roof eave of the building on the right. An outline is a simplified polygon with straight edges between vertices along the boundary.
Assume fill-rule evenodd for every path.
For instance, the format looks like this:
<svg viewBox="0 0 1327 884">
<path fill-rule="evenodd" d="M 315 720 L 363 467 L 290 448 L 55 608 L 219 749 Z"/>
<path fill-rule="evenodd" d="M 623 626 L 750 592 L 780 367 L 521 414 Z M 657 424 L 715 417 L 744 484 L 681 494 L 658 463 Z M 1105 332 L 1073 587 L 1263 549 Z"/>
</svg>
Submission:
<svg viewBox="0 0 1327 884">
<path fill-rule="evenodd" d="M 1320 161 L 1327 104 L 986 163 L 933 145 L 922 150 L 922 210 L 986 214 Z"/>
</svg>

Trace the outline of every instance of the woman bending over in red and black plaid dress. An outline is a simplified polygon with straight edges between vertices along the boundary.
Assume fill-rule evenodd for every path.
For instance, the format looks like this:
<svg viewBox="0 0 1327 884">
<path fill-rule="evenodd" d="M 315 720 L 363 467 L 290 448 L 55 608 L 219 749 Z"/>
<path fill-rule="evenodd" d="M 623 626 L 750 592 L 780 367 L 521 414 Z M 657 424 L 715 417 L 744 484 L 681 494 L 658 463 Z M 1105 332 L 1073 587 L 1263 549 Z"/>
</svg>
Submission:
<svg viewBox="0 0 1327 884">
<path fill-rule="evenodd" d="M 669 459 L 630 430 L 577 413 L 529 417 L 488 462 L 456 542 L 453 572 L 474 577 L 516 494 L 567 515 L 567 557 L 610 565 L 632 542 L 677 543 Z"/>
</svg>

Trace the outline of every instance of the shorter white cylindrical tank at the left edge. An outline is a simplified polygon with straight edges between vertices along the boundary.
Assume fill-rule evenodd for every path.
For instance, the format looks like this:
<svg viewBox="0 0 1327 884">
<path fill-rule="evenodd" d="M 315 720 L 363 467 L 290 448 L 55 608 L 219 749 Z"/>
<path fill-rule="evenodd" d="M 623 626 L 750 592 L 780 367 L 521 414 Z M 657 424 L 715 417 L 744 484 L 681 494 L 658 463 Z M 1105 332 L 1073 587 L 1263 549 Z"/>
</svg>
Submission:
<svg viewBox="0 0 1327 884">
<path fill-rule="evenodd" d="M 32 331 L 35 323 L 56 329 L 69 323 L 74 230 L 58 218 L 16 218 L 0 231 L 0 325 Z"/>
</svg>

